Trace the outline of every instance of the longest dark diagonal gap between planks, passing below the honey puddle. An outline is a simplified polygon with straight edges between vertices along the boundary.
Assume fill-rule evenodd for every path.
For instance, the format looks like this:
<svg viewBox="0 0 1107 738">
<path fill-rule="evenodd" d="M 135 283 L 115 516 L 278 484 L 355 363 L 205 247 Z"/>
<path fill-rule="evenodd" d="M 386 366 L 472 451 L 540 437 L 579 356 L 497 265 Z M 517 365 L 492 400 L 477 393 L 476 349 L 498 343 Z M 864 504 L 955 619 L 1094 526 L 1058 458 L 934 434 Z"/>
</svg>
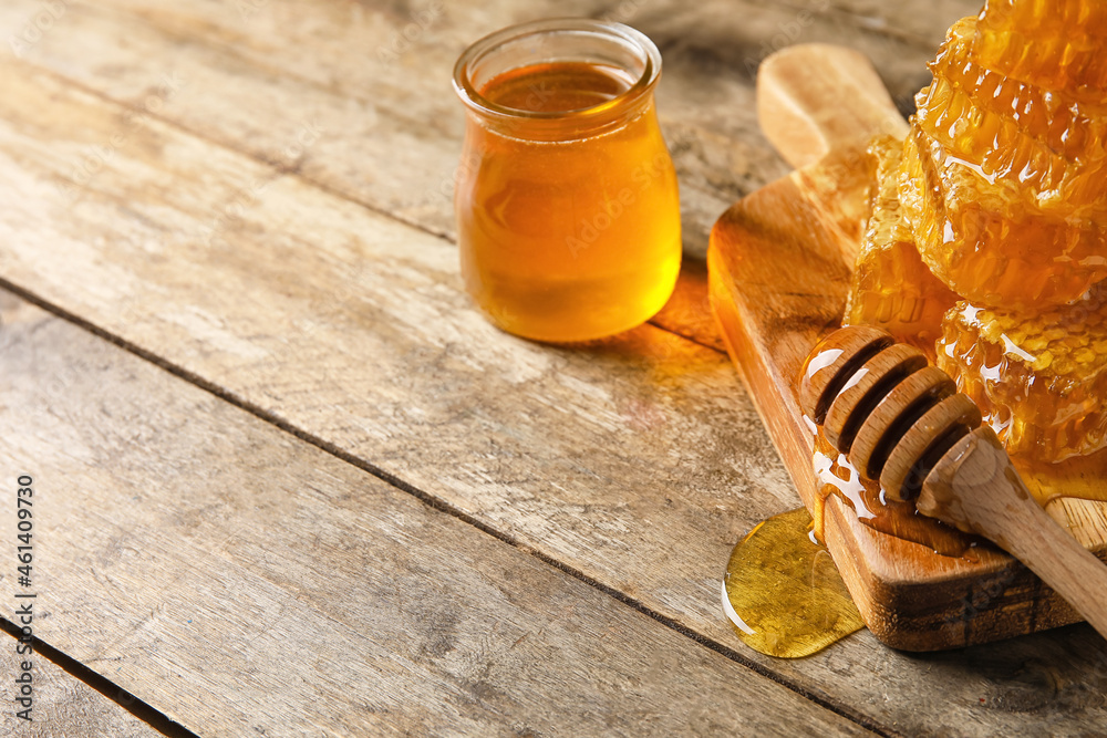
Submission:
<svg viewBox="0 0 1107 738">
<path fill-rule="evenodd" d="M 263 409 L 261 407 L 258 407 L 254 403 L 250 403 L 249 401 L 247 401 L 247 399 L 245 399 L 242 397 L 239 397 L 235 393 L 226 389 L 225 387 L 220 387 L 219 385 L 217 385 L 217 384 L 215 384 L 215 383 L 213 383 L 213 382 L 210 382 L 210 381 L 208 381 L 208 380 L 206 380 L 206 378 L 204 378 L 204 377 L 195 374 L 194 372 L 189 372 L 188 370 L 186 370 L 186 368 L 184 368 L 182 366 L 178 366 L 178 365 L 174 364 L 173 362 L 169 362 L 169 361 L 163 358 L 162 356 L 158 356 L 157 354 L 155 354 L 155 353 L 153 353 L 153 352 L 151 352 L 151 351 L 148 351 L 146 349 L 143 349 L 142 346 L 138 346 L 138 345 L 136 345 L 136 344 L 134 344 L 134 343 L 132 343 L 130 341 L 126 341 L 125 339 L 123 339 L 121 336 L 117 336 L 117 335 L 115 335 L 115 334 L 113 334 L 113 333 L 111 333 L 108 331 L 105 331 L 104 329 L 100 328 L 99 325 L 95 325 L 94 323 L 89 322 L 87 320 L 81 318 L 80 315 L 75 315 L 75 314 L 69 312 L 68 310 L 64 310 L 64 309 L 60 308 L 59 305 L 54 305 L 53 303 L 51 303 L 51 302 L 42 299 L 41 297 L 37 295 L 35 293 L 33 293 L 33 292 L 31 292 L 31 291 L 29 291 L 27 289 L 23 289 L 22 287 L 20 287 L 18 284 L 13 284 L 12 282 L 10 282 L 8 279 L 6 279 L 3 277 L 0 277 L 0 289 L 4 289 L 4 290 L 11 292 L 12 294 L 14 294 L 14 295 L 17 295 L 17 297 L 25 300 L 27 302 L 30 302 L 31 304 L 37 305 L 38 308 L 41 308 L 42 310 L 45 310 L 46 312 L 49 312 L 50 314 L 54 315 L 55 318 L 58 318 L 60 320 L 63 320 L 63 321 L 65 321 L 68 323 L 71 323 L 71 324 L 75 325 L 76 328 L 80 328 L 81 330 L 84 330 L 84 331 L 91 333 L 92 335 L 95 335 L 99 339 L 103 339 L 104 341 L 107 341 L 108 343 L 111 343 L 111 344 L 113 344 L 113 345 L 122 349 L 123 351 L 126 351 L 127 353 L 131 353 L 131 354 L 137 356 L 138 358 L 142 358 L 143 361 L 146 361 L 146 362 L 153 364 L 154 366 L 157 366 L 158 368 L 161 368 L 161 370 L 163 370 L 165 372 L 168 372 L 173 376 L 176 376 L 177 378 L 184 380 L 185 382 L 188 382 L 189 384 L 192 384 L 192 385 L 194 385 L 194 386 L 203 389 L 204 392 L 207 392 L 207 393 L 209 393 L 209 394 L 218 397 L 219 399 L 223 399 L 224 402 L 230 403 L 235 407 L 238 407 L 239 409 L 249 413 L 250 415 L 257 417 L 258 419 L 260 419 L 260 420 L 262 420 L 265 423 L 268 423 L 269 425 L 276 426 L 277 428 L 283 430 L 284 433 L 288 433 L 288 434 L 294 436 L 296 438 L 299 438 L 300 440 L 302 440 L 302 441 L 304 441 L 307 444 L 310 444 L 311 446 L 314 446 L 315 448 L 324 451 L 325 454 L 329 454 L 329 455 L 331 455 L 331 456 L 333 456 L 333 457 L 335 457 L 335 458 L 338 458 L 338 459 L 340 459 L 342 461 L 345 461 L 346 464 L 350 464 L 351 466 L 356 467 L 358 469 L 361 469 L 362 471 L 365 471 L 366 474 L 370 474 L 370 475 L 376 477 L 381 481 L 383 481 L 383 482 L 385 482 L 387 485 L 391 485 L 392 487 L 395 487 L 396 489 L 399 489 L 399 490 L 401 490 L 403 492 L 406 492 L 407 495 L 411 495 L 412 497 L 414 497 L 415 499 L 420 500 L 421 502 L 423 502 L 427 507 L 430 507 L 430 508 L 432 508 L 432 509 L 434 509 L 434 510 L 436 510 L 438 512 L 442 512 L 442 513 L 448 514 L 448 516 L 451 516 L 453 518 L 456 518 L 456 519 L 461 520 L 462 522 L 465 522 L 465 523 L 472 526 L 473 528 L 476 528 L 480 532 L 483 532 L 483 533 L 485 533 L 487 536 L 490 536 L 492 538 L 494 538 L 494 539 L 496 539 L 496 540 L 498 540 L 498 541 L 500 541 L 503 543 L 506 543 L 506 544 L 515 548 L 516 550 L 520 551 L 521 553 L 526 553 L 526 554 L 528 554 L 528 555 L 530 555 L 530 557 L 532 557 L 532 558 L 541 561 L 542 563 L 557 569 L 558 571 L 561 571 L 561 572 L 568 574 L 569 576 L 572 576 L 573 579 L 576 579 L 576 580 L 578 580 L 578 581 L 587 584 L 588 586 L 591 586 L 592 589 L 596 589 L 596 590 L 602 592 L 603 594 L 606 594 L 606 595 L 608 595 L 608 596 L 610 596 L 610 597 L 612 597 L 612 599 L 621 602 L 622 604 L 628 605 L 628 606 L 634 609 L 639 613 L 645 615 L 646 617 L 650 617 L 654 622 L 660 623 L 661 625 L 670 628 L 671 631 L 674 631 L 674 632 L 683 635 L 684 637 L 687 637 L 687 638 L 694 641 L 695 643 L 697 643 L 697 644 L 700 644 L 700 645 L 702 645 L 702 646 L 704 646 L 706 648 L 710 648 L 711 651 L 713 651 L 713 652 L 720 654 L 721 656 L 723 656 L 723 657 L 725 657 L 725 658 L 734 662 L 735 664 L 738 664 L 739 666 L 748 668 L 749 671 L 754 672 L 755 674 L 757 674 L 759 676 L 763 676 L 763 677 L 765 677 L 767 679 L 770 679 L 770 680 L 779 684 L 780 686 L 783 686 L 783 687 L 785 687 L 785 688 L 787 688 L 787 689 L 796 693 L 797 695 L 799 695 L 804 699 L 807 699 L 808 701 L 810 701 L 810 703 L 813 703 L 815 705 L 818 705 L 819 707 L 823 707 L 824 709 L 827 709 L 827 710 L 829 710 L 829 711 L 831 711 L 831 713 L 834 713 L 834 714 L 836 714 L 836 715 L 838 715 L 838 716 L 840 716 L 840 717 L 842 717 L 842 718 L 845 718 L 847 720 L 850 720 L 851 723 L 853 723 L 853 724 L 856 724 L 856 725 L 865 728 L 866 730 L 869 730 L 869 731 L 873 732 L 875 735 L 883 736 L 884 738 L 906 738 L 906 734 L 899 732 L 899 731 L 893 730 L 893 729 L 891 729 L 891 728 L 889 728 L 887 726 L 880 725 L 880 724 L 876 723 L 875 720 L 866 717 L 865 715 L 850 709 L 847 705 L 838 704 L 838 703 L 836 703 L 834 700 L 826 699 L 824 697 L 820 697 L 819 695 L 816 695 L 816 694 L 811 693 L 810 690 L 804 688 L 803 685 L 799 685 L 799 684 L 797 684 L 797 683 L 795 683 L 795 682 L 793 682 L 793 680 L 784 677 L 782 674 L 778 674 L 778 673 L 769 669 L 767 666 L 765 666 L 763 664 L 758 664 L 757 662 L 755 662 L 755 661 L 753 661 L 753 659 L 751 659 L 751 658 L 742 655 L 738 651 L 736 651 L 736 649 L 727 646 L 726 644 L 720 643 L 718 641 L 715 641 L 715 640 L 710 638 L 707 636 L 704 636 L 704 635 L 702 635 L 700 633 L 696 633 L 692 628 L 686 627 L 686 626 L 680 624 L 679 622 L 676 622 L 675 620 L 673 620 L 671 617 L 668 617 L 666 615 L 664 615 L 664 614 L 662 614 L 662 613 L 660 613 L 660 612 L 658 612 L 658 611 L 655 611 L 655 610 L 646 606 L 644 603 L 642 603 L 641 601 L 637 600 L 635 597 L 632 597 L 632 596 L 630 596 L 630 595 L 628 595 L 628 594 L 625 594 L 623 592 L 620 592 L 619 590 L 617 590 L 617 589 L 614 589 L 612 586 L 603 584 L 602 582 L 600 582 L 600 581 L 598 581 L 598 580 L 589 576 L 588 574 L 583 573 L 582 571 L 580 571 L 578 569 L 575 569 L 573 567 L 570 567 L 570 565 L 568 565 L 568 564 L 566 564 L 566 563 L 563 563 L 561 561 L 558 561 L 557 559 L 555 559 L 555 558 L 552 558 L 550 555 L 547 555 L 547 554 L 545 554 L 545 553 L 542 553 L 540 551 L 536 551 L 535 549 L 532 549 L 532 548 L 530 548 L 530 547 L 528 547 L 528 545 L 526 545 L 524 543 L 520 543 L 513 536 L 509 536 L 508 533 L 505 533 L 503 531 L 496 530 L 492 526 L 489 526 L 489 524 L 487 524 L 485 522 L 482 522 L 477 518 L 468 514 L 464 510 L 461 510 L 461 509 L 456 508 L 455 506 L 451 505 L 449 502 L 447 502 L 447 501 L 445 501 L 443 499 L 439 499 L 439 498 L 437 498 L 437 497 L 435 497 L 433 495 L 430 495 L 430 493 L 425 492 L 424 490 L 418 489 L 414 485 L 411 485 L 407 481 L 405 481 L 405 480 L 396 477 L 395 475 L 392 475 L 392 474 L 390 474 L 390 472 L 387 472 L 387 471 L 385 471 L 383 469 L 377 468 L 376 466 L 374 466 L 373 464 L 369 462 L 368 460 L 359 458 L 358 456 L 355 456 L 355 455 L 353 455 L 353 454 L 351 454 L 349 451 L 345 451 L 342 448 L 339 448 L 334 444 L 332 444 L 330 441 L 327 441 L 323 438 L 320 438 L 319 436 L 315 436 L 314 434 L 308 433 L 307 430 L 303 430 L 302 428 L 299 428 L 296 425 L 293 425 L 293 424 L 291 424 L 291 423 L 289 423 L 287 420 L 283 420 L 280 417 L 277 417 L 277 416 L 272 415 L 268 410 L 266 410 L 266 409 Z M 664 329 L 662 329 L 662 330 L 664 330 Z M 715 349 L 713 346 L 708 346 L 708 347 L 712 349 L 713 351 L 717 351 L 717 349 Z M 10 623 L 8 623 L 8 621 L 6 621 L 3 619 L 0 619 L 0 628 L 8 630 L 9 625 L 11 627 L 14 627 L 14 625 L 11 625 Z M 42 644 L 42 645 L 44 645 L 45 647 L 50 648 L 61 659 L 63 659 L 63 661 L 68 659 L 72 664 L 79 666 L 80 669 L 83 669 L 83 671 L 87 672 L 87 674 L 90 675 L 90 679 L 92 679 L 92 680 L 85 680 L 85 679 L 83 679 L 80 676 L 80 674 L 75 674 L 75 673 L 73 674 L 73 676 L 75 676 L 76 678 L 81 678 L 83 682 L 86 682 L 91 687 L 93 687 L 97 692 L 102 692 L 102 689 L 100 688 L 100 686 L 97 686 L 97 684 L 94 684 L 93 682 L 95 682 L 97 679 L 102 679 L 103 680 L 102 682 L 103 685 L 111 685 L 111 682 L 108 679 L 100 676 L 95 672 L 92 672 L 92 669 L 89 669 L 86 666 L 84 666 L 84 665 L 80 664 L 79 662 L 72 659 L 71 657 L 66 656 L 65 654 L 62 654 L 61 652 L 52 648 L 51 646 L 49 646 L 49 644 Z M 53 661 L 53 659 L 51 659 L 51 661 Z M 62 665 L 62 667 L 65 668 L 64 665 Z M 66 669 L 66 671 L 69 671 L 69 669 Z M 106 694 L 106 693 L 104 693 L 104 694 Z M 126 707 L 125 705 L 122 705 L 122 703 L 120 703 L 120 704 L 121 704 L 121 706 Z M 143 703 L 143 705 L 145 705 L 146 707 L 148 707 L 149 710 L 152 710 L 154 713 L 157 713 L 157 710 L 155 710 L 153 707 L 149 707 L 145 703 Z M 157 715 L 161 715 L 161 713 L 157 713 Z M 143 718 L 143 719 L 145 720 L 146 718 Z M 165 718 L 165 719 L 168 720 L 168 718 Z M 173 723 L 172 725 L 177 725 L 177 724 Z M 175 738 L 175 736 L 178 736 L 178 735 L 179 736 L 193 736 L 193 735 L 195 735 L 195 734 L 192 734 L 190 731 L 184 729 L 183 727 L 182 727 L 182 729 L 184 730 L 184 732 L 180 732 L 180 734 L 169 734 L 169 732 L 166 732 L 166 735 L 170 736 L 170 738 Z"/>
</svg>

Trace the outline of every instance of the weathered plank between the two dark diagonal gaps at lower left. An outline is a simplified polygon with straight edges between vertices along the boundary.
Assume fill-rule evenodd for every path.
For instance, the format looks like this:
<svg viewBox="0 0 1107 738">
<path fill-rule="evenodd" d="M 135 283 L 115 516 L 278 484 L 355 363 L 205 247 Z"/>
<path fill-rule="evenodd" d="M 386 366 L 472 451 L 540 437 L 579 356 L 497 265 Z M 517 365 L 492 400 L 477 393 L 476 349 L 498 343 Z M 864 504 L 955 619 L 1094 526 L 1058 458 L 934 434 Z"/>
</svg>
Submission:
<svg viewBox="0 0 1107 738">
<path fill-rule="evenodd" d="M 195 732 L 866 734 L 0 294 L 0 468 L 34 478 L 35 632 Z"/>
</svg>

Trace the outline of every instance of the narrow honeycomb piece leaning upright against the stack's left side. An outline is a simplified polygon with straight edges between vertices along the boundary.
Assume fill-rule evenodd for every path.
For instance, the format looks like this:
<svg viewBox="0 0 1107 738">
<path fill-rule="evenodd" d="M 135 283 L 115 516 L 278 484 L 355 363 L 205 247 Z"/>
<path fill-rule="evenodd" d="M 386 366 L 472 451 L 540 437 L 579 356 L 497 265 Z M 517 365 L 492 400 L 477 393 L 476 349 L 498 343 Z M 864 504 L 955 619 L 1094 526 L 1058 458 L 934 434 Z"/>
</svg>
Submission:
<svg viewBox="0 0 1107 738">
<path fill-rule="evenodd" d="M 923 264 L 903 218 L 902 153 L 902 143 L 891 136 L 878 137 L 869 147 L 877 159 L 877 187 L 842 323 L 880 326 L 933 358 L 942 315 L 958 298 Z"/>
</svg>

